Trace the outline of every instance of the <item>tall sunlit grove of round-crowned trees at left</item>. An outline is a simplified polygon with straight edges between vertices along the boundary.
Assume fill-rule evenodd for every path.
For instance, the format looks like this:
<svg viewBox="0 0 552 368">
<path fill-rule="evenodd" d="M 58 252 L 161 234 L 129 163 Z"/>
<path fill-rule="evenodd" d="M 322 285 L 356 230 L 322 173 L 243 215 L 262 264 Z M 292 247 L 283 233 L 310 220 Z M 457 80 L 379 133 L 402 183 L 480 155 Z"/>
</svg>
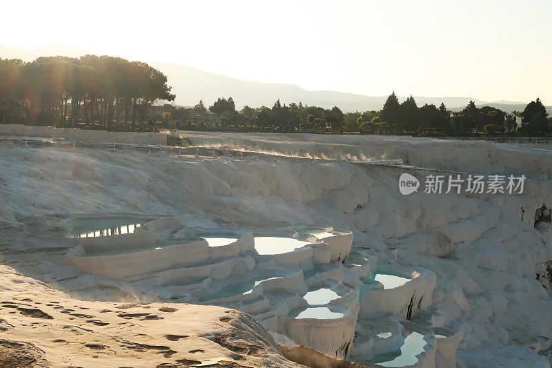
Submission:
<svg viewBox="0 0 552 368">
<path fill-rule="evenodd" d="M 0 122 L 108 129 L 123 122 L 144 130 L 148 108 L 175 99 L 170 89 L 159 70 L 120 57 L 0 59 Z"/>
</svg>

